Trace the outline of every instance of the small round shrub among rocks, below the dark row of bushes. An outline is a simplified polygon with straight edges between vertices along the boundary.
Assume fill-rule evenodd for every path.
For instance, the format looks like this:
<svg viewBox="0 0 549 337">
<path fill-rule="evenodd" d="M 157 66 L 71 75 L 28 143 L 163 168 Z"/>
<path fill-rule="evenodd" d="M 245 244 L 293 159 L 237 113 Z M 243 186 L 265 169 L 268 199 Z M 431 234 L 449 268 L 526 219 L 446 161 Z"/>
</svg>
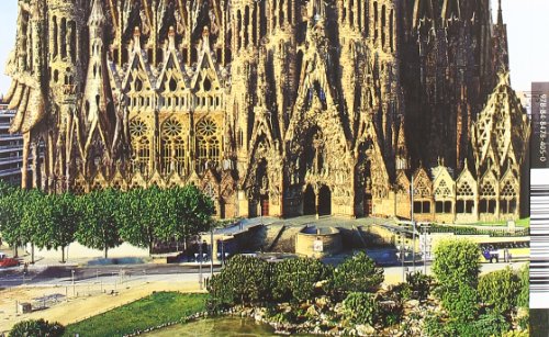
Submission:
<svg viewBox="0 0 549 337">
<path fill-rule="evenodd" d="M 370 324 L 379 317 L 379 305 L 373 294 L 351 292 L 343 302 L 344 316 L 355 324 Z"/>
</svg>

